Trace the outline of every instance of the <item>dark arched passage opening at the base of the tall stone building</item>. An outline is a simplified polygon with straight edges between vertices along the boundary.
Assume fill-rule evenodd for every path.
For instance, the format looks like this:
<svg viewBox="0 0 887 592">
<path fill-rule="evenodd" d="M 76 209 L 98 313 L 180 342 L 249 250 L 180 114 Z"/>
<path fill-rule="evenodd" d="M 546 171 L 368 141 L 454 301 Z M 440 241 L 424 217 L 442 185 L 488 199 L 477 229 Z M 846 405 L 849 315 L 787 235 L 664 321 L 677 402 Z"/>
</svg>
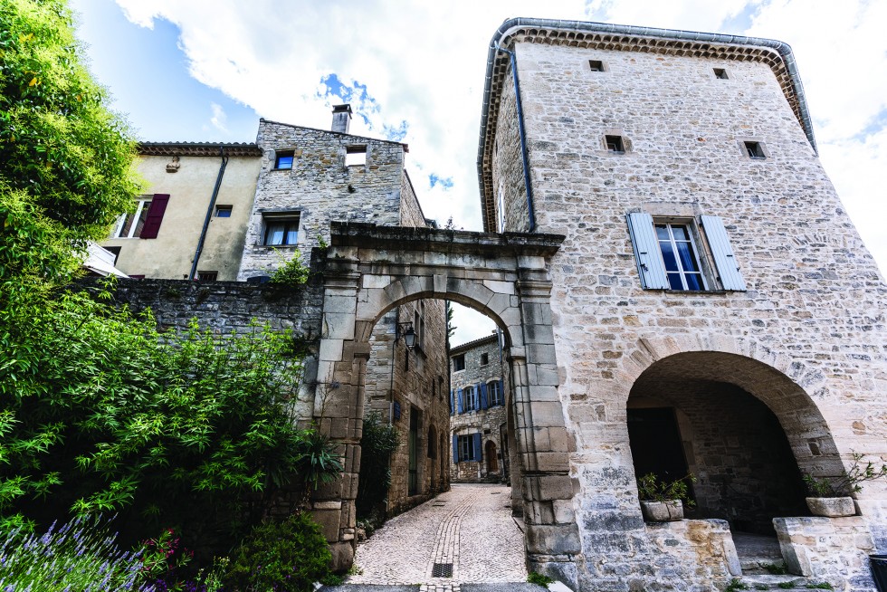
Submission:
<svg viewBox="0 0 887 592">
<path fill-rule="evenodd" d="M 806 515 L 801 470 L 840 466 L 810 396 L 752 358 L 659 359 L 634 381 L 627 407 L 635 475 L 695 474 L 691 515 L 729 520 L 734 531 L 769 534 L 773 518 Z"/>
</svg>

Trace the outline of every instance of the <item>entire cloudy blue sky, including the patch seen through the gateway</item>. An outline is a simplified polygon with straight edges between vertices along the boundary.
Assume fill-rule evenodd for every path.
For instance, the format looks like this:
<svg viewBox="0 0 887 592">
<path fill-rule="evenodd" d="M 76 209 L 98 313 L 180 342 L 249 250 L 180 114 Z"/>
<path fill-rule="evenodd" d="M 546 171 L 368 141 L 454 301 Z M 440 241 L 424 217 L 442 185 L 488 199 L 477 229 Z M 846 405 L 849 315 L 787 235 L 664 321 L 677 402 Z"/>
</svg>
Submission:
<svg viewBox="0 0 887 592">
<path fill-rule="evenodd" d="M 735 33 L 792 45 L 826 171 L 887 269 L 887 2 L 878 0 L 72 0 L 95 76 L 149 141 L 255 139 L 259 117 L 410 145 L 425 215 L 480 230 L 487 44 L 506 18 Z M 465 316 L 456 340 L 485 334 Z"/>
</svg>

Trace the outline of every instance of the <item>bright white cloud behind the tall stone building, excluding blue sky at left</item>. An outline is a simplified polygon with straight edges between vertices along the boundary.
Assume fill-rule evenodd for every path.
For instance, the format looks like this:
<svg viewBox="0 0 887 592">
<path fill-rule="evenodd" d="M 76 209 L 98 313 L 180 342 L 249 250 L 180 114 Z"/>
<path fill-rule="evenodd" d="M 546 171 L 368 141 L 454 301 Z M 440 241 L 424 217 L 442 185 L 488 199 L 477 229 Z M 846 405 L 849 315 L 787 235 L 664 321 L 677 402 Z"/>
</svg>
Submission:
<svg viewBox="0 0 887 592">
<path fill-rule="evenodd" d="M 181 30 L 192 75 L 267 119 L 327 128 L 321 79 L 367 86 L 377 109 L 352 132 L 380 137 L 406 122 L 407 169 L 425 215 L 481 228 L 475 158 L 487 46 L 512 16 L 767 36 L 790 43 L 815 119 L 822 160 L 863 237 L 887 269 L 879 202 L 887 170 L 887 3 L 846 0 L 530 0 L 281 5 L 272 0 L 118 0 L 128 18 Z M 748 31 L 743 31 L 750 24 Z M 320 93 L 320 94 L 319 94 Z M 361 106 L 367 108 L 367 103 Z M 222 121 L 224 125 L 224 120 Z M 251 138 L 242 138 L 248 140 Z M 450 178 L 450 187 L 430 177 Z M 463 323 L 467 324 L 467 323 Z"/>
</svg>

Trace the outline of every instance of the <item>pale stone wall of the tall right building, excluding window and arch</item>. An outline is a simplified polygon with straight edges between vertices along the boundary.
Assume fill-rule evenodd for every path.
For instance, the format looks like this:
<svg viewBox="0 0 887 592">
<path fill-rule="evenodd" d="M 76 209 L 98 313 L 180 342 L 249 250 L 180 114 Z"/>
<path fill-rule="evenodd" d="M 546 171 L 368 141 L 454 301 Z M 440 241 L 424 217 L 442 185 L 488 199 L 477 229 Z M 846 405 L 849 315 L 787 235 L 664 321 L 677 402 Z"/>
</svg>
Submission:
<svg viewBox="0 0 887 592">
<path fill-rule="evenodd" d="M 516 52 L 538 231 L 567 236 L 549 269 L 558 396 L 577 446 L 582 587 L 625 590 L 639 562 L 683 552 L 657 548 L 643 529 L 625 426 L 634 380 L 657 360 L 730 354 L 686 371 L 711 369 L 707 379 L 762 400 L 802 471 L 840 473 L 851 450 L 887 458 L 887 289 L 770 67 L 557 44 Z M 606 72 L 590 72 L 588 60 Z M 715 78 L 716 67 L 730 79 Z M 496 133 L 513 148 L 509 86 Z M 607 151 L 606 134 L 622 135 L 626 153 Z M 743 139 L 763 142 L 769 158 L 750 159 Z M 519 186 L 498 154 L 493 186 Z M 689 224 L 720 216 L 748 289 L 642 289 L 625 221 L 634 211 Z M 701 251 L 711 256 L 707 244 Z M 882 532 L 887 487 L 866 487 L 860 506 Z M 648 578 L 686 584 L 690 574 Z"/>
</svg>

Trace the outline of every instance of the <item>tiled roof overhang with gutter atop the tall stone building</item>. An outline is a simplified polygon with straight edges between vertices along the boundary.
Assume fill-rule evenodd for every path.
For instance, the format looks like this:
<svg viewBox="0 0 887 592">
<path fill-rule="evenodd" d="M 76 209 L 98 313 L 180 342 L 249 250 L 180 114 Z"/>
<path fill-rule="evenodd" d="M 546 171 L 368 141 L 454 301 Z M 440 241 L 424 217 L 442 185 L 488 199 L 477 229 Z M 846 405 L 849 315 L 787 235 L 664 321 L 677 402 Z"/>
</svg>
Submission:
<svg viewBox="0 0 887 592">
<path fill-rule="evenodd" d="M 807 110 L 804 87 L 797 73 L 795 55 L 787 43 L 762 37 L 699 33 L 625 24 L 512 18 L 502 23 L 492 36 L 483 86 L 477 171 L 481 188 L 483 228 L 488 232 L 494 232 L 496 222 L 491 169 L 492 144 L 495 137 L 493 132 L 499 115 L 502 83 L 509 63 L 508 55 L 498 51 L 497 47 L 512 49 L 515 43 L 545 43 L 766 63 L 776 75 L 788 104 L 806 133 L 810 146 L 816 151 L 813 121 Z"/>
</svg>

